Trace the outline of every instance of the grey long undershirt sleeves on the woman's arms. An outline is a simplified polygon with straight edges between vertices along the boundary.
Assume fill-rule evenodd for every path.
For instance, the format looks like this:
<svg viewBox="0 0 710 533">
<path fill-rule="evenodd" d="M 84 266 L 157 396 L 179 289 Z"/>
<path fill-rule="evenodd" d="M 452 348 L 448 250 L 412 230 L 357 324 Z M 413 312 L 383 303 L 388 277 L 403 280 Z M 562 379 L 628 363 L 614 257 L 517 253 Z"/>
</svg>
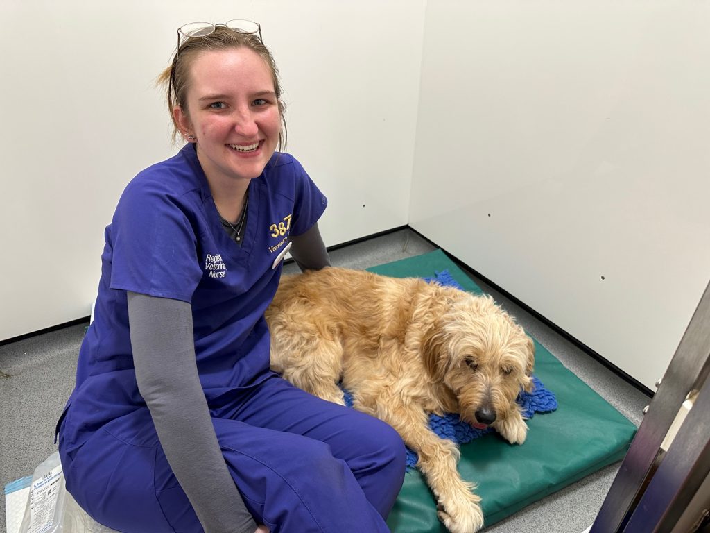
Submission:
<svg viewBox="0 0 710 533">
<path fill-rule="evenodd" d="M 292 240 L 300 269 L 329 265 L 317 225 Z M 224 463 L 200 385 L 190 303 L 129 292 L 128 305 L 138 389 L 204 531 L 253 533 L 256 522 Z"/>
</svg>

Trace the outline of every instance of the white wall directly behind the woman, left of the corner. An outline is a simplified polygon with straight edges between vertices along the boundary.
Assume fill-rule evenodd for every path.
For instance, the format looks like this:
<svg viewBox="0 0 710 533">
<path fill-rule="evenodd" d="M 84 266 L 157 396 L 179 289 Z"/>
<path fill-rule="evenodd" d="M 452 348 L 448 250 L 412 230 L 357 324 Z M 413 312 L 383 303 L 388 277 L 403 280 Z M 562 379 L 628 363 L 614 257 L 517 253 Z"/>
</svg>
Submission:
<svg viewBox="0 0 710 533">
<path fill-rule="evenodd" d="M 327 244 L 405 225 L 424 0 L 0 3 L 0 340 L 89 315 L 126 183 L 172 155 L 154 87 L 190 21 L 261 23 Z"/>
</svg>

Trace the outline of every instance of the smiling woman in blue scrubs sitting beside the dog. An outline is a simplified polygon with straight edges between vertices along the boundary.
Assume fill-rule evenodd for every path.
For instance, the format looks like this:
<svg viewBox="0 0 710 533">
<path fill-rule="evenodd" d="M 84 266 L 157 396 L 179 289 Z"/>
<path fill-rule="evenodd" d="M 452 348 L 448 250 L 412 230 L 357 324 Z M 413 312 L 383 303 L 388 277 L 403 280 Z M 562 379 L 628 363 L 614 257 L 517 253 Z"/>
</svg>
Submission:
<svg viewBox="0 0 710 533">
<path fill-rule="evenodd" d="M 138 532 L 386 532 L 405 470 L 390 426 L 268 367 L 285 250 L 327 266 L 326 199 L 280 146 L 255 23 L 189 24 L 162 75 L 187 144 L 133 178 L 58 423 L 67 490 Z"/>
</svg>

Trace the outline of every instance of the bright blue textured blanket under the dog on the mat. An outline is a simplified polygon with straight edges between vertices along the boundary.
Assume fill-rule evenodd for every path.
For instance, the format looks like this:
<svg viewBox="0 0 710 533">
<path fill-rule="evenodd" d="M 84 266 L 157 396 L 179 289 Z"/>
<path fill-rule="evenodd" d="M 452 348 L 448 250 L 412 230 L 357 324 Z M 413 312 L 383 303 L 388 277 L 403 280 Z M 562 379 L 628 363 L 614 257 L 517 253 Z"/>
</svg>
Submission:
<svg viewBox="0 0 710 533">
<path fill-rule="evenodd" d="M 426 281 L 436 281 L 442 285 L 464 290 L 447 270 L 437 272 L 436 276 L 426 278 Z M 518 404 L 523 411 L 523 417 L 526 419 L 531 419 L 535 413 L 549 413 L 557 409 L 555 394 L 545 389 L 545 385 L 534 375 L 532 376 L 532 382 L 535 384 L 535 388 L 532 389 L 532 392 L 523 391 L 520 392 L 520 396 L 518 396 Z M 346 405 L 352 407 L 352 398 L 349 392 L 344 391 L 344 399 Z M 444 416 L 432 414 L 429 417 L 429 424 L 435 434 L 443 438 L 449 438 L 457 444 L 471 442 L 474 438 L 494 431 L 493 428 L 490 427 L 487 429 L 476 429 L 466 424 L 466 422 L 461 421 L 458 414 L 452 413 L 444 414 Z M 407 468 L 414 468 L 416 464 L 417 454 L 407 448 Z"/>
</svg>

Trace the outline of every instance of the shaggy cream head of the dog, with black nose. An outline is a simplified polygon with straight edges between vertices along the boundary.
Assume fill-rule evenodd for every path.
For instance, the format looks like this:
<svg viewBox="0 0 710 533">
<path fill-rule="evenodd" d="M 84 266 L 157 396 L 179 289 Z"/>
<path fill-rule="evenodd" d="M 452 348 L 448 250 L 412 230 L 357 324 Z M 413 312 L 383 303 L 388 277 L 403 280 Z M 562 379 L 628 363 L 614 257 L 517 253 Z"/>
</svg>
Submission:
<svg viewBox="0 0 710 533">
<path fill-rule="evenodd" d="M 532 390 L 535 345 L 490 296 L 440 293 L 422 338 L 427 371 L 451 390 L 464 421 L 480 428 L 505 420 L 519 411 L 521 390 Z"/>
</svg>

